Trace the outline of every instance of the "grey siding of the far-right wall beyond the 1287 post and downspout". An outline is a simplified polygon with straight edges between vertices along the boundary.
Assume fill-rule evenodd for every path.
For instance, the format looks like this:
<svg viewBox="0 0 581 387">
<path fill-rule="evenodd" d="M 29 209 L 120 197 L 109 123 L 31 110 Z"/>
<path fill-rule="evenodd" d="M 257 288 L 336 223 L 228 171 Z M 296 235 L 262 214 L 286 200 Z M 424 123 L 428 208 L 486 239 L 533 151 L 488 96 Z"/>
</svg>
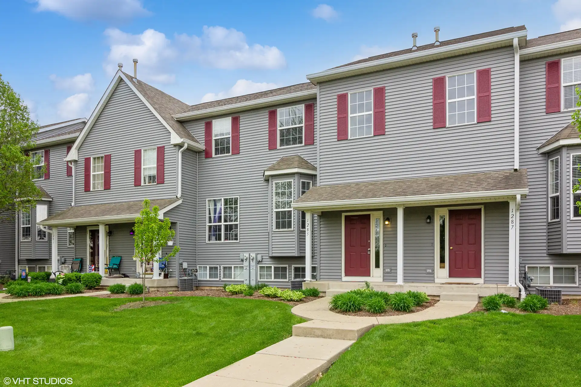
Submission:
<svg viewBox="0 0 581 387">
<path fill-rule="evenodd" d="M 537 152 L 537 147 L 571 122 L 572 113 L 545 113 L 545 62 L 574 55 L 579 55 L 579 52 L 521 62 L 520 164 L 521 168 L 527 168 L 529 179 L 529 194 L 522 200 L 520 209 L 521 270 L 525 270 L 526 265 L 581 265 L 579 254 L 563 256 L 552 252 L 560 242 L 554 240 L 554 234 L 548 231 L 553 223 L 548 223 L 547 212 L 547 155 Z M 555 227 L 560 225 L 561 222 L 557 222 Z M 567 233 L 573 234 L 577 228 L 581 228 L 581 223 L 570 222 Z M 554 246 L 555 250 L 551 247 L 551 252 L 548 252 L 548 245 Z M 562 290 L 564 294 L 581 294 L 579 287 L 564 287 Z"/>
</svg>

